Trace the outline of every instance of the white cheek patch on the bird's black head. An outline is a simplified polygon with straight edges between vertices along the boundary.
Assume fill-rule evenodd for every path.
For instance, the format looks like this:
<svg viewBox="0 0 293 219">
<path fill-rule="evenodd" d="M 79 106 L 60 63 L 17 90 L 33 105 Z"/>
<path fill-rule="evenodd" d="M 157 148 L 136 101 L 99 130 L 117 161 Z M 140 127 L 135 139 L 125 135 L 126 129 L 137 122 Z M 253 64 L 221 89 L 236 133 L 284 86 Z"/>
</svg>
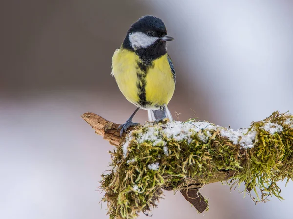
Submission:
<svg viewBox="0 0 293 219">
<path fill-rule="evenodd" d="M 129 34 L 129 41 L 134 50 L 138 48 L 146 48 L 157 41 L 159 37 L 150 37 L 142 32 L 134 32 Z"/>
</svg>

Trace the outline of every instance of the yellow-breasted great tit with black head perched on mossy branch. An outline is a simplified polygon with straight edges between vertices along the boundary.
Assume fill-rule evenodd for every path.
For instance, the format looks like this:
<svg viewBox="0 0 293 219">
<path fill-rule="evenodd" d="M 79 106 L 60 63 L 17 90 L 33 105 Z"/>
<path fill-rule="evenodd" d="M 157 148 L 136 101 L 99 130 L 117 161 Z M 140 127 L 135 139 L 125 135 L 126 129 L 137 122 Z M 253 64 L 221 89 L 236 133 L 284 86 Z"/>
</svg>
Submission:
<svg viewBox="0 0 293 219">
<path fill-rule="evenodd" d="M 137 108 L 118 128 L 120 136 L 130 126 L 139 109 L 148 110 L 149 120 L 155 123 L 172 119 L 168 110 L 176 83 L 176 73 L 166 42 L 174 38 L 167 35 L 164 22 L 153 15 L 145 15 L 127 31 L 121 47 L 112 56 L 111 75 L 126 97 Z"/>
</svg>

